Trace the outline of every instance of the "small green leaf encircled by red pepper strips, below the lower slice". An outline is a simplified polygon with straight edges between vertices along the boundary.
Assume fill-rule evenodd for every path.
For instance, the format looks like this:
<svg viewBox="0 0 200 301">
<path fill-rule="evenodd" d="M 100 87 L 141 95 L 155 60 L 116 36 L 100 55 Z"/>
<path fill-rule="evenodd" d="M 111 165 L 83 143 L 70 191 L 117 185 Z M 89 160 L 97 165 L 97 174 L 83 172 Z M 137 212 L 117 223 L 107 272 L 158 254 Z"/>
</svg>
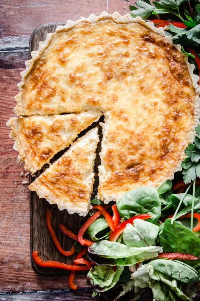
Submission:
<svg viewBox="0 0 200 301">
<path fill-rule="evenodd" d="M 93 241 L 106 239 L 109 237 L 109 233 L 110 228 L 104 217 L 100 217 L 93 222 L 87 230 L 88 237 Z"/>
</svg>

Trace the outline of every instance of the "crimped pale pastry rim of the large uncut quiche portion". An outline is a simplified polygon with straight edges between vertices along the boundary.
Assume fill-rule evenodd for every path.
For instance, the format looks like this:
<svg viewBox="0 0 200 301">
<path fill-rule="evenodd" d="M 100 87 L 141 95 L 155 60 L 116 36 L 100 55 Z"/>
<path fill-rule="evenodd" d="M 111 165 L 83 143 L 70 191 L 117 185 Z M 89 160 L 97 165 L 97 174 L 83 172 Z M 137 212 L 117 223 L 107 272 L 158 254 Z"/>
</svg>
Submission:
<svg viewBox="0 0 200 301">
<path fill-rule="evenodd" d="M 149 21 L 149 22 L 145 22 L 144 20 L 142 20 L 141 17 L 136 17 L 136 18 L 132 18 L 130 14 L 125 14 L 124 16 L 121 16 L 118 12 L 114 12 L 112 15 L 108 14 L 106 11 L 103 11 L 99 16 L 96 16 L 94 14 L 91 14 L 88 18 L 84 18 L 81 17 L 81 19 L 77 20 L 77 21 L 72 21 L 72 20 L 68 20 L 65 26 L 57 26 L 55 33 L 48 33 L 47 34 L 47 38 L 46 41 L 44 42 L 39 42 L 39 49 L 37 51 L 32 51 L 31 52 L 31 60 L 28 60 L 25 62 L 25 67 L 26 70 L 22 71 L 21 77 L 22 77 L 22 81 L 17 85 L 19 87 L 19 93 L 18 95 L 15 96 L 15 100 L 17 102 L 16 107 L 14 108 L 14 111 L 16 114 L 20 115 L 25 115 L 23 107 L 22 107 L 22 90 L 23 90 L 23 86 L 25 84 L 25 79 L 26 77 L 30 74 L 32 67 L 34 65 L 34 62 L 37 61 L 43 54 L 43 52 L 45 51 L 45 49 L 50 45 L 53 37 L 55 36 L 56 33 L 58 32 L 62 32 L 62 31 L 68 31 L 70 29 L 72 29 L 74 26 L 78 25 L 79 23 L 85 22 L 85 23 L 97 23 L 99 21 L 103 21 L 103 20 L 112 20 L 115 23 L 118 24 L 128 24 L 128 23 L 139 23 L 142 26 L 152 30 L 153 32 L 159 34 L 160 36 L 165 37 L 165 39 L 167 39 L 171 44 L 173 44 L 172 39 L 169 36 L 165 35 L 164 29 L 163 28 L 156 28 L 154 26 L 154 23 Z M 175 44 L 173 44 L 175 45 Z M 175 47 L 181 51 L 181 45 L 175 45 Z M 195 75 L 193 73 L 194 71 L 194 65 L 190 64 L 188 62 L 188 58 L 187 55 L 183 54 L 185 57 L 185 62 L 187 64 L 189 73 L 190 73 L 190 77 L 193 83 L 193 87 L 196 89 L 196 104 L 195 104 L 195 108 L 194 108 L 194 125 L 188 135 L 188 140 L 187 140 L 187 144 L 189 143 L 193 143 L 194 141 L 194 137 L 196 136 L 196 132 L 195 132 L 195 127 L 200 124 L 199 123 L 199 93 L 200 93 L 200 87 L 198 85 L 198 81 L 199 81 L 199 76 Z M 185 147 L 186 147 L 185 146 Z M 185 154 L 183 152 L 181 158 L 180 158 L 180 162 L 177 164 L 175 169 L 172 169 L 171 172 L 169 172 L 169 176 L 166 177 L 167 179 L 173 179 L 174 178 L 174 173 L 177 171 L 181 171 L 181 162 L 184 160 L 185 158 Z M 159 186 L 161 183 L 160 182 L 155 182 L 155 186 Z M 104 197 L 103 197 L 104 198 Z M 116 200 L 117 196 L 115 198 L 113 197 L 105 197 L 105 202 L 108 203 L 111 200 Z"/>
</svg>

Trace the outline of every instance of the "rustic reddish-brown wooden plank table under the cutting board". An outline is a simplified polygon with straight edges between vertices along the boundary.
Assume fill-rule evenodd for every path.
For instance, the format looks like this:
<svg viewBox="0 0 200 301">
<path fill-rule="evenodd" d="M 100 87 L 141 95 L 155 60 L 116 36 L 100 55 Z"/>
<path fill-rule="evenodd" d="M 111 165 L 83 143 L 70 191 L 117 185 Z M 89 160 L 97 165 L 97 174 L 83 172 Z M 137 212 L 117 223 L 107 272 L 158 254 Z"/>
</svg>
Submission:
<svg viewBox="0 0 200 301">
<path fill-rule="evenodd" d="M 77 20 L 103 10 L 129 12 L 129 0 L 0 0 L 0 300 L 91 300 L 85 278 L 79 276 L 79 291 L 69 290 L 66 277 L 36 274 L 30 263 L 29 191 L 23 165 L 8 137 L 6 121 L 14 116 L 14 96 L 19 73 L 28 59 L 28 42 L 35 27 L 42 23 Z M 20 176 L 23 171 L 23 177 Z M 99 300 L 98 297 L 93 299 Z"/>
</svg>

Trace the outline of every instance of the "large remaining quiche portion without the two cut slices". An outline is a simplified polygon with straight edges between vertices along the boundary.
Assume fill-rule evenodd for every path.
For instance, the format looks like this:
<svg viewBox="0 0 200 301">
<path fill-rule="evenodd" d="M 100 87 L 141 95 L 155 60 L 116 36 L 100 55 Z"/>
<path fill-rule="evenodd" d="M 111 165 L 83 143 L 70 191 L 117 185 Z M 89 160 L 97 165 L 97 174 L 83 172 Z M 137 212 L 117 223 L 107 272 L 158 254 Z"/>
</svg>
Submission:
<svg viewBox="0 0 200 301">
<path fill-rule="evenodd" d="M 199 77 L 163 28 L 130 14 L 92 14 L 58 26 L 31 55 L 18 116 L 100 110 L 105 117 L 98 198 L 116 201 L 181 170 L 199 123 Z"/>
</svg>

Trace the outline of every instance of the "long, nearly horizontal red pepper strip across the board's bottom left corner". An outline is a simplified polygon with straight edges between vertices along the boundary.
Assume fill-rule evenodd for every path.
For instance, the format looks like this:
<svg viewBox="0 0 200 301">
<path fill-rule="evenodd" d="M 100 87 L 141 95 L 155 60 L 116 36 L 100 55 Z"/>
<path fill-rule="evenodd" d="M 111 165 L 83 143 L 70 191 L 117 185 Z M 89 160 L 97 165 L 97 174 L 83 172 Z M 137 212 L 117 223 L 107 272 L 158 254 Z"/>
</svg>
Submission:
<svg viewBox="0 0 200 301">
<path fill-rule="evenodd" d="M 32 258 L 37 265 L 44 266 L 44 267 L 62 268 L 64 270 L 70 270 L 70 271 L 86 271 L 90 269 L 88 266 L 83 266 L 83 265 L 70 265 L 59 261 L 42 260 L 38 255 L 38 251 L 32 252 Z"/>
</svg>

